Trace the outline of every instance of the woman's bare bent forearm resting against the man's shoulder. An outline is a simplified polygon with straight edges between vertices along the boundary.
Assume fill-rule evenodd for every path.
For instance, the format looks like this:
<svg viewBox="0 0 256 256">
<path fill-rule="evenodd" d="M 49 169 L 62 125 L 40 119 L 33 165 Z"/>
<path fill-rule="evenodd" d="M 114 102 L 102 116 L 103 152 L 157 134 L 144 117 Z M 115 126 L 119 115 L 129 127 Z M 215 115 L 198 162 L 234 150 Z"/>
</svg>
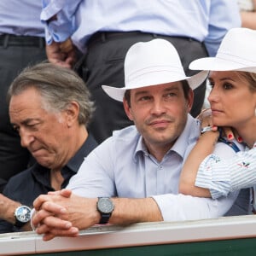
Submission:
<svg viewBox="0 0 256 256">
<path fill-rule="evenodd" d="M 207 131 L 201 135 L 183 165 L 179 182 L 180 193 L 200 197 L 211 196 L 208 189 L 202 189 L 195 186 L 195 178 L 201 162 L 208 154 L 212 154 L 217 141 L 218 131 Z"/>
</svg>

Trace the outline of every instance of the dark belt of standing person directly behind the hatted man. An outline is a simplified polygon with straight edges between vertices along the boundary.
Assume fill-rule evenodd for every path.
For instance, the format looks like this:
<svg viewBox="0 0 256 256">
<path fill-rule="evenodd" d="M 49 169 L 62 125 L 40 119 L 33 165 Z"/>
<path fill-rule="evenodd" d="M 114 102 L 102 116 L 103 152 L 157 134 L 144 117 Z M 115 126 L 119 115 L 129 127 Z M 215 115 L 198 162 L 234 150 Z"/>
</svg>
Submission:
<svg viewBox="0 0 256 256">
<path fill-rule="evenodd" d="M 104 43 L 110 40 L 114 40 L 117 38 L 180 38 L 185 40 L 193 40 L 196 41 L 193 38 L 187 38 L 187 37 L 173 37 L 173 36 L 167 36 L 167 35 L 160 35 L 156 33 L 150 33 L 150 32 L 96 32 L 93 34 L 90 39 L 88 40 L 87 45 L 90 47 L 92 44 L 96 43 Z"/>
</svg>

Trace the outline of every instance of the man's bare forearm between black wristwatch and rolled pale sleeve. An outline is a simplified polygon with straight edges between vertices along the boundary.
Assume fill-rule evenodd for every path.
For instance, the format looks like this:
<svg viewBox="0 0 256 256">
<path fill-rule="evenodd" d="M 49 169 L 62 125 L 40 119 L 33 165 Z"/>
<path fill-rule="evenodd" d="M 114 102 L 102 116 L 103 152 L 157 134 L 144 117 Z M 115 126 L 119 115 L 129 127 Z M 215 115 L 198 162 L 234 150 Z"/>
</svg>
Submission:
<svg viewBox="0 0 256 256">
<path fill-rule="evenodd" d="M 160 209 L 153 198 L 113 198 L 114 210 L 110 224 L 133 224 L 162 221 Z"/>
</svg>

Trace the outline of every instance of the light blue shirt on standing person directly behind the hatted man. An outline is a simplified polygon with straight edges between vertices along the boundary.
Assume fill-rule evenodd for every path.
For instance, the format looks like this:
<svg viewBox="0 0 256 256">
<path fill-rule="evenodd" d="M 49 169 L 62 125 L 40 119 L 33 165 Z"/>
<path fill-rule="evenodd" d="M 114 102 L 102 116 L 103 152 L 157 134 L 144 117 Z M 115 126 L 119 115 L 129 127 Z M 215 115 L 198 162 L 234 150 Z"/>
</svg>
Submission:
<svg viewBox="0 0 256 256">
<path fill-rule="evenodd" d="M 48 44 L 72 36 L 82 51 L 90 36 L 104 32 L 152 32 L 204 41 L 216 55 L 225 33 L 241 26 L 236 1 L 227 0 L 43 0 L 41 20 Z M 57 20 L 49 22 L 53 15 Z"/>
</svg>

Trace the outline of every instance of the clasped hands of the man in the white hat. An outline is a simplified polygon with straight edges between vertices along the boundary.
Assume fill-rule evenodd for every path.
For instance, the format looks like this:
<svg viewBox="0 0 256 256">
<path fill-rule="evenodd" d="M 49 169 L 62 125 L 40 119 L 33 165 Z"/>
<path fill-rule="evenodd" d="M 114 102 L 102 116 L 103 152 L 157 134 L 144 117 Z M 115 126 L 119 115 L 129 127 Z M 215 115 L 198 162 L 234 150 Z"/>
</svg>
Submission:
<svg viewBox="0 0 256 256">
<path fill-rule="evenodd" d="M 33 203 L 37 212 L 32 224 L 38 234 L 44 234 L 44 241 L 55 236 L 79 236 L 79 230 L 99 222 L 96 201 L 73 195 L 68 189 L 39 195 Z"/>
</svg>

